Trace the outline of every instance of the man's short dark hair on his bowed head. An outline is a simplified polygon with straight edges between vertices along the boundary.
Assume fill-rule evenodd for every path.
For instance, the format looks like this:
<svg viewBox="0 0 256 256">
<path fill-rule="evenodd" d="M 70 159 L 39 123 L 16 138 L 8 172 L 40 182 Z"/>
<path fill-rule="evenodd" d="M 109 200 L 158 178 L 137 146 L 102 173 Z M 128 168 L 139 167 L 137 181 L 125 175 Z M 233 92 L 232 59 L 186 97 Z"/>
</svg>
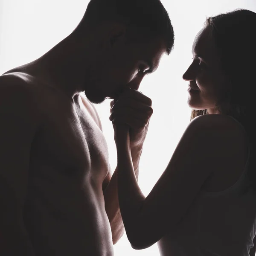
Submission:
<svg viewBox="0 0 256 256">
<path fill-rule="evenodd" d="M 169 54 L 174 32 L 169 15 L 160 0 L 91 0 L 80 25 L 97 26 L 107 21 L 134 27 L 149 37 L 162 37 Z"/>
</svg>

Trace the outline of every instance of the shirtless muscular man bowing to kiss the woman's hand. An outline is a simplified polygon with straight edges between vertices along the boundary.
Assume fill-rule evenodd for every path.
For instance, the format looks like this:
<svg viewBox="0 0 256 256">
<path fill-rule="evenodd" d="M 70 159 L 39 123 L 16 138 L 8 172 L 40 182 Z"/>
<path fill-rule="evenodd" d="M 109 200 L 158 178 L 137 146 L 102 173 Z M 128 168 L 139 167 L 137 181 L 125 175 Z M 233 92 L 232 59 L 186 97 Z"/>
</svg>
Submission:
<svg viewBox="0 0 256 256">
<path fill-rule="evenodd" d="M 137 90 L 172 46 L 158 0 L 91 0 L 67 38 L 0 76 L 1 256 L 113 256 L 124 228 L 91 102 L 123 102 L 138 175 L 152 110 Z"/>
</svg>

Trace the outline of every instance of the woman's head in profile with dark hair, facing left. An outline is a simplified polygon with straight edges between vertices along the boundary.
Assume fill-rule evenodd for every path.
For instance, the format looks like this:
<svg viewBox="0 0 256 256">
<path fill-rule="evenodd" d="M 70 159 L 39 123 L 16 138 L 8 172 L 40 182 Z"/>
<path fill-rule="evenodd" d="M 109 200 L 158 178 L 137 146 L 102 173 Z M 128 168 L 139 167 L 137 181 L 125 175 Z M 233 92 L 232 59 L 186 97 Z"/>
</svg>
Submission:
<svg viewBox="0 0 256 256">
<path fill-rule="evenodd" d="M 189 81 L 192 118 L 223 113 L 244 119 L 256 85 L 256 13 L 239 9 L 209 17 L 193 44 Z"/>
</svg>

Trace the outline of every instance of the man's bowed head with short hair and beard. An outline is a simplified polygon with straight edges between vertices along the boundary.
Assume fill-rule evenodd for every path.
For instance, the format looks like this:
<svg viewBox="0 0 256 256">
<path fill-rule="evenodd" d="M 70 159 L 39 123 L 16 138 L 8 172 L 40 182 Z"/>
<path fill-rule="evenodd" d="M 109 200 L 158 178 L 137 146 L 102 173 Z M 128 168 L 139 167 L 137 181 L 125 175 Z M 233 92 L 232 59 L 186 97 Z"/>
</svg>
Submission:
<svg viewBox="0 0 256 256">
<path fill-rule="evenodd" d="M 118 97 L 125 86 L 137 90 L 174 44 L 171 21 L 159 0 L 91 0 L 73 35 L 90 41 L 89 59 L 79 44 L 81 67 L 90 61 L 79 72 L 94 103 Z"/>
</svg>

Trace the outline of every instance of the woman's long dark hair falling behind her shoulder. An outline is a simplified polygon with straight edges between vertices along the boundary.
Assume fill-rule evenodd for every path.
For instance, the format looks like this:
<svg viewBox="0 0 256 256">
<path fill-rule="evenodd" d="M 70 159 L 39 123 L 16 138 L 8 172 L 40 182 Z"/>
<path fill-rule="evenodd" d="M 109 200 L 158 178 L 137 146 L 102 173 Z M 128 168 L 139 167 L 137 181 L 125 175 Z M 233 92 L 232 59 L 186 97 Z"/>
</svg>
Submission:
<svg viewBox="0 0 256 256">
<path fill-rule="evenodd" d="M 250 148 L 248 176 L 256 190 L 254 105 L 256 96 L 256 13 L 245 9 L 209 17 L 210 29 L 221 57 L 224 73 L 230 82 L 230 90 L 217 102 L 220 113 L 233 116 L 244 126 Z M 225 106 L 223 107 L 225 102 Z M 207 114 L 207 110 L 193 110 L 191 120 Z"/>
</svg>

